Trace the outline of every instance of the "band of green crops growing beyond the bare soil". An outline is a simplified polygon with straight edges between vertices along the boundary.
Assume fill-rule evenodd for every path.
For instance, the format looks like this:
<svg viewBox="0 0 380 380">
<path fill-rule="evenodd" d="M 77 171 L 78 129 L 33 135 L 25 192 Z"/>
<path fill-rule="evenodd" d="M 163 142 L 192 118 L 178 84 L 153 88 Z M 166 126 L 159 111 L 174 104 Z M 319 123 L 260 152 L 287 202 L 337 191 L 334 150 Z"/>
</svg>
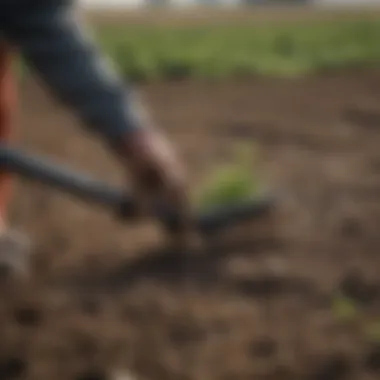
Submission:
<svg viewBox="0 0 380 380">
<path fill-rule="evenodd" d="M 380 62 L 380 20 L 96 29 L 122 74 L 135 81 L 298 76 Z"/>
</svg>

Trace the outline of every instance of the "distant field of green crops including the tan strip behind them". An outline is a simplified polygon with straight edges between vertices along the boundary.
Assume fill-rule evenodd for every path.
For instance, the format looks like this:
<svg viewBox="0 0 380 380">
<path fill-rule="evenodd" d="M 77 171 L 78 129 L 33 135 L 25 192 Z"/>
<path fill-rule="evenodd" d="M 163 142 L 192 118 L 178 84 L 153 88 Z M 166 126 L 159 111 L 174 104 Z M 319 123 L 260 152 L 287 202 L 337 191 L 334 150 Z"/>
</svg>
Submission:
<svg viewBox="0 0 380 380">
<path fill-rule="evenodd" d="M 379 61 L 376 11 L 197 12 L 130 12 L 123 22 L 112 13 L 92 19 L 102 45 L 135 81 L 289 77 Z"/>
</svg>

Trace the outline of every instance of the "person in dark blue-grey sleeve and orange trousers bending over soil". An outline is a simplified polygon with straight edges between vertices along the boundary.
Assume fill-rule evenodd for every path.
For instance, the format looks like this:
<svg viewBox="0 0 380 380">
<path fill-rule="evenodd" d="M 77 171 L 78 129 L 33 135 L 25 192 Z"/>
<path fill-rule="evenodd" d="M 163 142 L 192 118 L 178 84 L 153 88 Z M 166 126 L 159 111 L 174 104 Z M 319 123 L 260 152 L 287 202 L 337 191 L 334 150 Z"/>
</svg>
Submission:
<svg viewBox="0 0 380 380">
<path fill-rule="evenodd" d="M 52 96 L 111 149 L 125 168 L 141 215 L 161 202 L 186 225 L 190 207 L 178 154 L 97 48 L 72 1 L 0 0 L 0 41 L 0 143 L 13 139 L 17 89 L 12 61 L 20 54 Z M 8 226 L 11 200 L 12 175 L 0 171 L 0 260 L 20 255 L 26 246 Z"/>
</svg>

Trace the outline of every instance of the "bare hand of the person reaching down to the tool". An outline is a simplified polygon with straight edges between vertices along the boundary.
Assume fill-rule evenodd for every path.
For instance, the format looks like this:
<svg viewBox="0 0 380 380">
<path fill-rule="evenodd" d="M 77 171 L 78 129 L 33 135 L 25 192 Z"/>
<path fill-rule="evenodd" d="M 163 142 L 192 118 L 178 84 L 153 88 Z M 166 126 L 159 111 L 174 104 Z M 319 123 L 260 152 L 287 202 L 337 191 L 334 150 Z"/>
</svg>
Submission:
<svg viewBox="0 0 380 380">
<path fill-rule="evenodd" d="M 185 169 L 163 134 L 150 128 L 130 132 L 120 152 L 131 178 L 139 214 L 151 216 L 154 204 L 176 213 L 183 240 L 191 229 L 191 207 Z"/>
</svg>

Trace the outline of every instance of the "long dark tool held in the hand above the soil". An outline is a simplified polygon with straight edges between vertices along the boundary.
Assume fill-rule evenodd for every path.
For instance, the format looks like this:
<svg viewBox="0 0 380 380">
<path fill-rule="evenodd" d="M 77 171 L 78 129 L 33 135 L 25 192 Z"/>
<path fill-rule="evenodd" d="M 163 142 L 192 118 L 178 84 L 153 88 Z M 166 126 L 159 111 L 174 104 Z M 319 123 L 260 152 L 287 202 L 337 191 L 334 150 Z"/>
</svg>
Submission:
<svg viewBox="0 0 380 380">
<path fill-rule="evenodd" d="M 126 219 L 133 218 L 136 215 L 136 204 L 131 194 L 54 163 L 49 158 L 0 146 L 0 168 L 18 174 L 23 178 L 54 187 L 84 201 L 110 207 Z M 206 213 L 197 216 L 194 224 L 201 233 L 208 233 L 243 220 L 261 216 L 272 208 L 274 200 L 273 196 L 266 195 L 239 204 L 213 207 Z M 169 212 L 162 209 L 160 205 L 156 205 L 152 214 L 167 228 L 171 230 L 176 228 L 177 216 L 174 212 Z"/>
</svg>

